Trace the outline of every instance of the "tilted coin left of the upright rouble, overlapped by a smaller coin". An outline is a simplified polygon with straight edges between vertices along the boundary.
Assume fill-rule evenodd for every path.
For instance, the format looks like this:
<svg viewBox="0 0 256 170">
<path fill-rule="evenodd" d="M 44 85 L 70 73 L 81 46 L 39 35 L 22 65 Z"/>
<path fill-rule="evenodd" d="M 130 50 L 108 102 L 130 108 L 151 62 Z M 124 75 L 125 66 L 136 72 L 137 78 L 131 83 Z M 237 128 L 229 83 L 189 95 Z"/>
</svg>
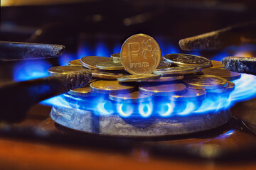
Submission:
<svg viewBox="0 0 256 170">
<path fill-rule="evenodd" d="M 83 67 L 88 69 L 97 69 L 96 64 L 100 62 L 110 62 L 111 60 L 108 57 L 86 56 L 82 57 L 80 61 Z"/>
</svg>

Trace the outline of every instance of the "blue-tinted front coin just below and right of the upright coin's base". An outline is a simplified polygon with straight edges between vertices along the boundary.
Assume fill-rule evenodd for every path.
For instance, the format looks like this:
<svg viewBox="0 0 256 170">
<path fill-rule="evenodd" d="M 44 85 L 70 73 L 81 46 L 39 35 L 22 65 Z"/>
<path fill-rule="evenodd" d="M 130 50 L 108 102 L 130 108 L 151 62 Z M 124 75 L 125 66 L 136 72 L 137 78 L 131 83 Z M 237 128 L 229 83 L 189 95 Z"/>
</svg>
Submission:
<svg viewBox="0 0 256 170">
<path fill-rule="evenodd" d="M 185 84 L 158 84 L 154 86 L 140 86 L 139 92 L 154 96 L 171 96 L 174 94 L 181 94 L 186 91 Z"/>
</svg>

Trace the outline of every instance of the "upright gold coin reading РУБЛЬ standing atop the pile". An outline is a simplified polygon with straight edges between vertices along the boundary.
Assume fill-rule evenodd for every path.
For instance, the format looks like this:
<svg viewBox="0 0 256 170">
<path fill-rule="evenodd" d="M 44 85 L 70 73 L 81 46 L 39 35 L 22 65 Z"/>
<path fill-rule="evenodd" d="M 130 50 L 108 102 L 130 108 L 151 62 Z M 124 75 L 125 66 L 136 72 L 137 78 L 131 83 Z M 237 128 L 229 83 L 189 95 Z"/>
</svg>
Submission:
<svg viewBox="0 0 256 170">
<path fill-rule="evenodd" d="M 150 74 L 159 67 L 161 50 L 154 38 L 137 34 L 124 42 L 120 56 L 124 69 L 130 74 Z"/>
</svg>

